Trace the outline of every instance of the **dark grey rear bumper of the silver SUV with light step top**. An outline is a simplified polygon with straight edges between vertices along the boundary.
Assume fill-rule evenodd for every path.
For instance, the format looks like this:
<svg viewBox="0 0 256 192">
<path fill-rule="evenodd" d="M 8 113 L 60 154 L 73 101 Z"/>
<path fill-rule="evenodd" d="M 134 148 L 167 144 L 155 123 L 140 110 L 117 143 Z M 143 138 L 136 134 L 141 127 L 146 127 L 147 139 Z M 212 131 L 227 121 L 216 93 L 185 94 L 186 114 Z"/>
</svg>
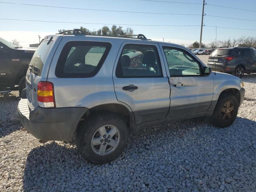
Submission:
<svg viewBox="0 0 256 192">
<path fill-rule="evenodd" d="M 23 127 L 40 140 L 70 141 L 76 127 L 87 111 L 84 107 L 28 108 L 28 100 L 21 99 L 18 112 Z"/>
</svg>

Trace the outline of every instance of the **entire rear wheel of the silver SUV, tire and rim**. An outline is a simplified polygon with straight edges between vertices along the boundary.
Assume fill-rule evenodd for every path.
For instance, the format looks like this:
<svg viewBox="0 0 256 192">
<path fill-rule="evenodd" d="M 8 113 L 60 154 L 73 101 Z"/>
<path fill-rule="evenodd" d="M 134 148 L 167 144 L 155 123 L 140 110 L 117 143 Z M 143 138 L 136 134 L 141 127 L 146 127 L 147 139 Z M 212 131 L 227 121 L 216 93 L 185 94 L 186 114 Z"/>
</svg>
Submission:
<svg viewBox="0 0 256 192">
<path fill-rule="evenodd" d="M 105 164 L 122 153 L 127 138 L 128 127 L 122 117 L 104 113 L 82 122 L 76 142 L 83 158 L 94 164 Z"/>
</svg>

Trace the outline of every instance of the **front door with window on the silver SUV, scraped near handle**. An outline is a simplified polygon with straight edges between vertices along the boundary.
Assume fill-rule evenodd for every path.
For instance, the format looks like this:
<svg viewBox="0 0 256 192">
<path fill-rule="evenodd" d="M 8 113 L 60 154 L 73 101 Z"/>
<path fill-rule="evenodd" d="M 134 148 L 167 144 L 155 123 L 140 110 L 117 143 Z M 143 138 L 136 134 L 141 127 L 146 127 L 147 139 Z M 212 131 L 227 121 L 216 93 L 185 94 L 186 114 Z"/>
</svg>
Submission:
<svg viewBox="0 0 256 192">
<path fill-rule="evenodd" d="M 202 75 L 203 65 L 187 50 L 168 44 L 162 44 L 161 47 L 171 89 L 168 117 L 208 110 L 213 96 L 212 76 Z M 165 54 L 169 50 L 177 50 L 182 54 Z"/>
</svg>

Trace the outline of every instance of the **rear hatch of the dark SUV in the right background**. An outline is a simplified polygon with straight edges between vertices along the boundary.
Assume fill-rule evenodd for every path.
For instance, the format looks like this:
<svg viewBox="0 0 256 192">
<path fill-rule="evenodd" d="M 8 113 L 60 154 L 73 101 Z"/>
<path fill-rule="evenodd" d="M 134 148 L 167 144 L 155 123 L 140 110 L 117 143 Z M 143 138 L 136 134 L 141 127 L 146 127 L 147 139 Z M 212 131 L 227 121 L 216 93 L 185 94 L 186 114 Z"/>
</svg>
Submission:
<svg viewBox="0 0 256 192">
<path fill-rule="evenodd" d="M 231 53 L 232 49 L 216 49 L 212 54 L 210 54 L 208 59 L 208 65 L 217 64 L 217 65 L 225 65 L 227 60 L 225 57 L 228 57 Z"/>
</svg>

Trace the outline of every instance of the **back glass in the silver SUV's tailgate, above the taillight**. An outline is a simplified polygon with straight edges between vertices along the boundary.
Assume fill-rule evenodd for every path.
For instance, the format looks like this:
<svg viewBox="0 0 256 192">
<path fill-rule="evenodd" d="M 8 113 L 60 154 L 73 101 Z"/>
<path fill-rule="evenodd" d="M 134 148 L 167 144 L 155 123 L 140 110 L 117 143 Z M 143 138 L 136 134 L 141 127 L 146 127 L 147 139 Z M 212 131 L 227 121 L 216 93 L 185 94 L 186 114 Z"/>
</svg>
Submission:
<svg viewBox="0 0 256 192">
<path fill-rule="evenodd" d="M 31 72 L 37 76 L 41 76 L 46 54 L 48 53 L 53 41 L 51 40 L 51 42 L 47 44 L 48 42 L 49 40 L 45 40 L 40 43 L 30 62 L 30 65 L 33 65 Z"/>
</svg>

